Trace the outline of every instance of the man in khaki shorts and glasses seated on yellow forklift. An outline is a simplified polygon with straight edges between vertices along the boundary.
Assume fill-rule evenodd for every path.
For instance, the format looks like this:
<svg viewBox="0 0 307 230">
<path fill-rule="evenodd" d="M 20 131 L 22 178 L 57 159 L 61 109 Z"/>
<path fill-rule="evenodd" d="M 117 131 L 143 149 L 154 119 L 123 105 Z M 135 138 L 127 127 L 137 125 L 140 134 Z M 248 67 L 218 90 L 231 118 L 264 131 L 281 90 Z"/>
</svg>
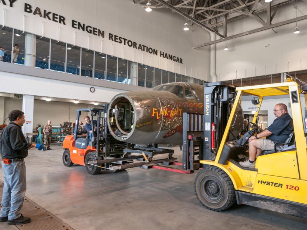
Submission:
<svg viewBox="0 0 307 230">
<path fill-rule="evenodd" d="M 287 106 L 279 103 L 274 107 L 274 115 L 277 117 L 272 125 L 263 132 L 251 136 L 248 146 L 249 159 L 240 162 L 246 168 L 255 168 L 255 158 L 262 154 L 262 150 L 274 150 L 277 142 L 285 142 L 289 134 L 293 132 L 293 121 L 288 113 Z M 259 139 L 266 137 L 266 139 Z"/>
</svg>

